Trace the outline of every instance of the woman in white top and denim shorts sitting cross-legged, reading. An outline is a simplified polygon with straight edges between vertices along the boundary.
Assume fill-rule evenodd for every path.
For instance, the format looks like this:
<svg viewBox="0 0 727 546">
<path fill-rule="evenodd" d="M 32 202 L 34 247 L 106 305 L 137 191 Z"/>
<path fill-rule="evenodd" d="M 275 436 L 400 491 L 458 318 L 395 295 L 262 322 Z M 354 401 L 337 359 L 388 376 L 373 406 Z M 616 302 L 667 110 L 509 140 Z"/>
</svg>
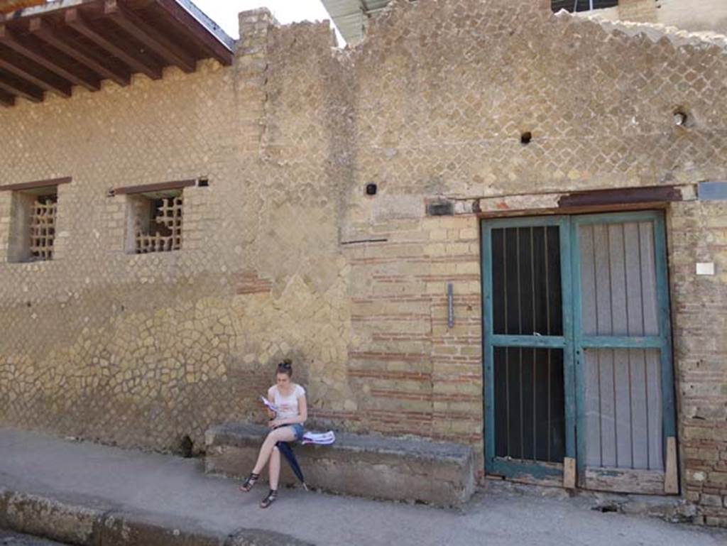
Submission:
<svg viewBox="0 0 727 546">
<path fill-rule="evenodd" d="M 276 385 L 268 389 L 268 401 L 277 406 L 278 412 L 268 409 L 272 419 L 268 426 L 273 429 L 265 438 L 257 456 L 257 463 L 252 473 L 240 486 L 241 491 L 249 491 L 260 478 L 262 469 L 270 459 L 268 474 L 270 475 L 270 492 L 260 502 L 261 508 L 267 508 L 278 498 L 278 480 L 280 478 L 280 451 L 276 443 L 300 441 L 303 437 L 303 423 L 308 418 L 308 404 L 305 402 L 305 389 L 292 382 L 293 366 L 291 361 L 284 360 L 278 364 Z"/>
</svg>

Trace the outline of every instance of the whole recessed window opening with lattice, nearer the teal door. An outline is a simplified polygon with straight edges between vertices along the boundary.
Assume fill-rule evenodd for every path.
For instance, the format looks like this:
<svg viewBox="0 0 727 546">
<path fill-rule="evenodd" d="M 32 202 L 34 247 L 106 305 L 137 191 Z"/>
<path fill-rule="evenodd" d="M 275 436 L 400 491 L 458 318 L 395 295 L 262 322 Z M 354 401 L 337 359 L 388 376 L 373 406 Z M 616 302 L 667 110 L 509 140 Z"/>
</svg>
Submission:
<svg viewBox="0 0 727 546">
<path fill-rule="evenodd" d="M 182 249 L 182 190 L 167 190 L 129 195 L 132 254 L 172 252 Z"/>
</svg>

